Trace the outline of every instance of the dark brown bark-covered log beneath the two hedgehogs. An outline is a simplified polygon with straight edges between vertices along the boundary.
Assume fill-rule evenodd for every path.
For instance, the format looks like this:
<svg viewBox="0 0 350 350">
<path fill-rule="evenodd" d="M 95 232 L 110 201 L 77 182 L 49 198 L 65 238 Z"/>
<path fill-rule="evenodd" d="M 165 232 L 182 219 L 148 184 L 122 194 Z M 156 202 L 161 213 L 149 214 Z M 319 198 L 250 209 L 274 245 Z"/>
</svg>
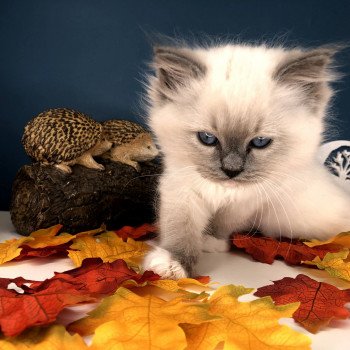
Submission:
<svg viewBox="0 0 350 350">
<path fill-rule="evenodd" d="M 72 167 L 65 174 L 54 166 L 23 166 L 12 187 L 11 220 L 18 233 L 62 224 L 69 233 L 106 224 L 108 229 L 155 219 L 154 199 L 160 165 L 132 167 L 99 159 L 105 170 Z"/>
</svg>

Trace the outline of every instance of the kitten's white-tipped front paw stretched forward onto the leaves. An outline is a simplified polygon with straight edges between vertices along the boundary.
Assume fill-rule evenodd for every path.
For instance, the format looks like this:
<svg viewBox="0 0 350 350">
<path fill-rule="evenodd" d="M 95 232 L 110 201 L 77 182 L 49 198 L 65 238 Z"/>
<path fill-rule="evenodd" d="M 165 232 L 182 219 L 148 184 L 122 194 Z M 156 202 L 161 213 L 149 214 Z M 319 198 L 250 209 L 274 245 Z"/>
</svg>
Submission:
<svg viewBox="0 0 350 350">
<path fill-rule="evenodd" d="M 154 247 L 146 255 L 143 268 L 145 270 L 151 270 L 166 279 L 175 280 L 187 277 L 187 273 L 181 264 L 172 259 L 171 254 L 167 250 L 160 247 Z"/>
</svg>

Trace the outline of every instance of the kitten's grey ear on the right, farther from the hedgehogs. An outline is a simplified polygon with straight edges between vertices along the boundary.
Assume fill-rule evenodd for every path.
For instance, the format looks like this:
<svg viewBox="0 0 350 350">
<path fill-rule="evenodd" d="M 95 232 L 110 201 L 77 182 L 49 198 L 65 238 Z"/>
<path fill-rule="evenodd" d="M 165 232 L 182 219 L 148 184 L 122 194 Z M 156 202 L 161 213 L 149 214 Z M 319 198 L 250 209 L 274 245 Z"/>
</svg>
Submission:
<svg viewBox="0 0 350 350">
<path fill-rule="evenodd" d="M 339 78 L 334 69 L 334 56 L 340 46 L 324 46 L 314 50 L 291 51 L 277 67 L 274 78 L 281 84 L 302 89 L 305 104 L 315 108 L 326 105 L 331 89 L 329 83 Z"/>
</svg>

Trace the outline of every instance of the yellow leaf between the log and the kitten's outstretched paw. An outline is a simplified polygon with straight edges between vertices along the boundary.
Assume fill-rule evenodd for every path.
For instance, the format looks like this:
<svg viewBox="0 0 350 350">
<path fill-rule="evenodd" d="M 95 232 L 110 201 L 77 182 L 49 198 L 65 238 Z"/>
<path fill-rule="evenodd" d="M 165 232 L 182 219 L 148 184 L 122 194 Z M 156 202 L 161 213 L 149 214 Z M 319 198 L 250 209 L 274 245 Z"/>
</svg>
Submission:
<svg viewBox="0 0 350 350">
<path fill-rule="evenodd" d="M 82 261 L 87 258 L 101 258 L 104 262 L 124 259 L 126 262 L 135 263 L 137 258 L 147 252 L 148 245 L 131 238 L 124 242 L 113 231 L 108 231 L 98 236 L 76 237 L 70 249 L 74 250 L 69 250 L 68 256 L 75 266 L 81 266 Z"/>
</svg>

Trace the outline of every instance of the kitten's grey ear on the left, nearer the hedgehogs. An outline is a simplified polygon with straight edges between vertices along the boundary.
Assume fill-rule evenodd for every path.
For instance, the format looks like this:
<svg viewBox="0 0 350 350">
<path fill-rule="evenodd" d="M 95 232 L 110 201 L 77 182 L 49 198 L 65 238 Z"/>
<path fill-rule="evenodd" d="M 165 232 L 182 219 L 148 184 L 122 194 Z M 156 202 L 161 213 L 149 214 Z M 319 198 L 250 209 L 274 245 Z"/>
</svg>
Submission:
<svg viewBox="0 0 350 350">
<path fill-rule="evenodd" d="M 200 79 L 206 68 L 193 55 L 191 50 L 155 47 L 153 67 L 156 70 L 156 86 L 159 96 L 170 99 L 181 87 L 192 79 Z"/>
</svg>

